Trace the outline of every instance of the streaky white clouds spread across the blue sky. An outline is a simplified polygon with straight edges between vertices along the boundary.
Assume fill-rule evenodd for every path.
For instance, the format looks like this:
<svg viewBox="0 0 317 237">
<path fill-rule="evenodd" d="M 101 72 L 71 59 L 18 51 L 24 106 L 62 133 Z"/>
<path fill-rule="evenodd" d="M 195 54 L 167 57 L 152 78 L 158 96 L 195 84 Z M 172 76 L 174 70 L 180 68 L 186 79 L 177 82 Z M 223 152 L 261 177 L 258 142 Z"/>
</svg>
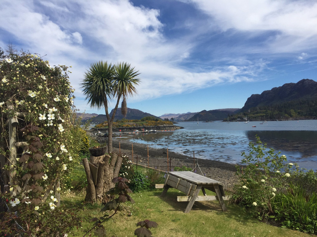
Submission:
<svg viewBox="0 0 317 237">
<path fill-rule="evenodd" d="M 190 5 L 205 14 L 199 19 L 182 16 L 175 28 L 183 34 L 169 37 L 159 9 L 134 6 L 128 0 L 94 0 L 93 4 L 87 0 L 3 0 L 0 22 L 5 24 L 0 30 L 6 36 L 0 35 L 0 42 L 3 45 L 10 40 L 17 48 L 47 54 L 45 60 L 51 65 L 72 65 L 70 81 L 76 89 L 75 104 L 81 110 L 86 102 L 79 84 L 95 61 L 131 63 L 141 73 L 142 82 L 139 94 L 130 100 L 141 101 L 216 84 L 256 80 L 269 62 L 261 57 L 250 60 L 247 54 L 286 52 L 293 53 L 293 59 L 304 59 L 307 54 L 301 52 L 316 47 L 317 3 L 183 2 L 194 3 Z M 263 42 L 244 42 L 263 32 L 268 32 Z M 231 42 L 210 45 L 209 41 L 222 33 L 226 34 L 223 40 Z M 197 51 L 199 47 L 203 49 Z M 206 55 L 200 59 L 199 54 Z"/>
</svg>

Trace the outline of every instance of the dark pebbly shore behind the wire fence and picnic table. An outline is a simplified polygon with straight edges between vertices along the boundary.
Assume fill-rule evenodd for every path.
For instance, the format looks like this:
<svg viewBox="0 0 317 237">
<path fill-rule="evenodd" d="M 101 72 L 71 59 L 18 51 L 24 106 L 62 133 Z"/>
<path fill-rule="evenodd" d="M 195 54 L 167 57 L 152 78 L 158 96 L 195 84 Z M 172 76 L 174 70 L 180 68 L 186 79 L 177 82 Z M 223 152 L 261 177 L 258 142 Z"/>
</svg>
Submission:
<svg viewBox="0 0 317 237">
<path fill-rule="evenodd" d="M 107 141 L 106 137 L 97 138 L 98 142 L 103 143 Z M 132 143 L 128 139 L 113 138 L 112 139 L 113 151 L 129 157 L 133 163 L 136 163 L 138 158 L 138 164 L 152 167 L 158 170 L 167 171 L 167 150 L 157 149 L 147 146 L 146 144 Z M 132 157 L 132 144 L 133 144 L 133 157 Z M 217 180 L 223 183 L 223 187 L 228 189 L 237 182 L 236 166 L 234 164 L 225 163 L 221 161 L 207 160 L 194 158 L 175 152 L 168 151 L 169 158 L 169 170 L 175 169 L 175 167 L 186 166 L 194 169 L 198 161 L 198 167 L 196 169 L 197 174 L 207 176 L 211 179 Z"/>
</svg>

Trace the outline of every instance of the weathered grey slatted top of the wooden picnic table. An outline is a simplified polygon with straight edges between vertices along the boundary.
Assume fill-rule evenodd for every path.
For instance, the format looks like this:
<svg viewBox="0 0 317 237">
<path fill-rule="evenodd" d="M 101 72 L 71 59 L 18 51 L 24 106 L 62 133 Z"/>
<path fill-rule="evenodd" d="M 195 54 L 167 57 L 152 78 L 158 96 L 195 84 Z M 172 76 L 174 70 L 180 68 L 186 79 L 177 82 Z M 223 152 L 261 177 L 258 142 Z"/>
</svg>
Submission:
<svg viewBox="0 0 317 237">
<path fill-rule="evenodd" d="M 168 172 L 168 174 L 171 174 L 173 176 L 176 176 L 178 178 L 184 179 L 190 183 L 193 184 L 219 184 L 219 185 L 223 185 L 223 183 L 214 180 L 214 179 L 210 179 L 208 177 L 202 176 L 202 175 L 198 175 L 194 172 L 191 171 L 172 171 L 172 172 Z"/>
</svg>

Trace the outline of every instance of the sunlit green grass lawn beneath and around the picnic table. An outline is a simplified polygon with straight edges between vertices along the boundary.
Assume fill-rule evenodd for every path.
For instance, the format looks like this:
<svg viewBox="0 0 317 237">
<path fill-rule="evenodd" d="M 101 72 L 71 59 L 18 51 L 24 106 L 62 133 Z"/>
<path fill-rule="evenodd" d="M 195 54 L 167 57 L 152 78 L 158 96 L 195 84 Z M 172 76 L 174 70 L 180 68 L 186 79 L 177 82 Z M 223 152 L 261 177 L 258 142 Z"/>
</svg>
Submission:
<svg viewBox="0 0 317 237">
<path fill-rule="evenodd" d="M 246 215 L 236 205 L 228 204 L 227 211 L 222 212 L 218 201 L 195 202 L 190 213 L 185 214 L 187 202 L 177 202 L 177 196 L 184 195 L 176 189 L 169 189 L 165 197 L 160 197 L 162 189 L 131 194 L 135 204 L 127 202 L 124 211 L 114 215 L 105 222 L 107 236 L 134 236 L 136 223 L 146 219 L 159 224 L 151 229 L 153 236 L 310 236 L 297 231 L 271 226 Z M 81 215 L 87 218 L 99 217 L 100 206 L 84 205 L 85 193 L 68 195 L 63 203 L 69 207 L 81 209 Z M 130 214 L 131 213 L 131 214 Z M 92 223 L 83 222 L 83 229 L 92 227 Z M 75 230 L 68 236 L 83 236 L 81 230 Z"/>
</svg>

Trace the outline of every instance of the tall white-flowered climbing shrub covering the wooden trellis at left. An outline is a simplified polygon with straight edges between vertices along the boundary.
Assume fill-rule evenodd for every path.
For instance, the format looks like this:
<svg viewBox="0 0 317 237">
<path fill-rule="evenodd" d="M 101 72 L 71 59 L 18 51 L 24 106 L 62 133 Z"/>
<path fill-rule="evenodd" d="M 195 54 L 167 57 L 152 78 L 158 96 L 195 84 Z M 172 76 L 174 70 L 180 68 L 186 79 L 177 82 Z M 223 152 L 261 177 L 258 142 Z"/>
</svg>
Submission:
<svg viewBox="0 0 317 237">
<path fill-rule="evenodd" d="M 59 197 L 66 190 L 66 177 L 79 162 L 82 142 L 77 136 L 74 90 L 68 80 L 71 72 L 67 66 L 51 67 L 38 55 L 25 52 L 0 54 L 0 68 L 0 152 L 9 161 L 4 168 L 11 175 L 10 195 L 3 194 L 3 198 L 9 200 L 10 212 L 14 210 L 25 217 L 24 221 L 16 219 L 22 221 L 19 225 L 28 229 L 30 236 L 38 236 L 38 227 L 29 227 L 40 220 L 42 226 L 51 220 L 63 224 L 64 216 L 49 210 L 59 205 Z M 15 147 L 6 145 L 8 122 L 16 115 L 17 137 L 22 145 L 12 157 Z M 10 220 L 3 223 L 9 224 Z M 71 221 L 69 226 L 77 224 Z"/>
</svg>

